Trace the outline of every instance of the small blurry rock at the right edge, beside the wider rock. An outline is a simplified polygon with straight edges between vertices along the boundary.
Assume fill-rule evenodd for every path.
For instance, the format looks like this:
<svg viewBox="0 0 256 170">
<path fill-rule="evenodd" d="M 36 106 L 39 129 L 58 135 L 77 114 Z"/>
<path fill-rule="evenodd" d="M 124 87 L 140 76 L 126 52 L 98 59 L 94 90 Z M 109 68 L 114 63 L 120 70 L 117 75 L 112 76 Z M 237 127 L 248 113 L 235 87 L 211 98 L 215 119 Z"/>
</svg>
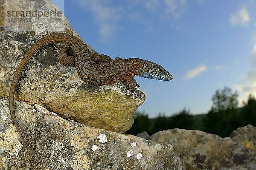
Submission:
<svg viewBox="0 0 256 170">
<path fill-rule="evenodd" d="M 230 138 L 256 152 L 256 127 L 253 125 L 237 128 L 230 134 Z"/>
</svg>

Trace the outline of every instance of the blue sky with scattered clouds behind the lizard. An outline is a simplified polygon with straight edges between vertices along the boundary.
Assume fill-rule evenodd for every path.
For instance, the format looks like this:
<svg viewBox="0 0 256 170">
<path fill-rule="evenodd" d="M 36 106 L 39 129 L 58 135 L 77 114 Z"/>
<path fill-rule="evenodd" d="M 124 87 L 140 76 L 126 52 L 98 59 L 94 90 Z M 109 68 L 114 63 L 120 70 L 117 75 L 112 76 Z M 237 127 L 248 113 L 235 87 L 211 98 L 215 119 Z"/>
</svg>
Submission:
<svg viewBox="0 0 256 170">
<path fill-rule="evenodd" d="M 52 0 L 58 5 L 57 0 Z M 217 89 L 256 96 L 256 0 L 65 0 L 64 14 L 99 54 L 162 65 L 172 81 L 135 77 L 138 111 L 206 113 Z"/>
</svg>

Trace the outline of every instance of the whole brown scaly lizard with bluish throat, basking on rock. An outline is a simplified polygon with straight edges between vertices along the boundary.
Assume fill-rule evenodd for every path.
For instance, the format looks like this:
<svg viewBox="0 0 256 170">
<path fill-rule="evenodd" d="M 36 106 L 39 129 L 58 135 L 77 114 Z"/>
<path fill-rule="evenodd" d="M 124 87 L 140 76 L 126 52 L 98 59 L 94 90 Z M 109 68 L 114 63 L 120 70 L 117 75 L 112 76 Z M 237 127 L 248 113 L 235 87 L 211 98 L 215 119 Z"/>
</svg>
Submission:
<svg viewBox="0 0 256 170">
<path fill-rule="evenodd" d="M 125 81 L 128 90 L 134 90 L 137 85 L 134 79 L 135 75 L 149 79 L 172 80 L 172 75 L 161 65 L 148 60 L 139 58 L 122 59 L 119 57 L 113 60 L 104 54 L 91 54 L 84 42 L 71 34 L 55 33 L 43 37 L 35 42 L 23 55 L 14 73 L 9 91 L 9 108 L 12 121 L 24 146 L 26 146 L 26 143 L 14 111 L 15 90 L 20 75 L 29 60 L 39 49 L 53 43 L 66 44 L 64 48 L 59 49 L 60 64 L 75 66 L 79 77 L 90 85 L 109 85 L 115 82 Z M 68 48 L 72 49 L 74 55 L 67 56 Z"/>
</svg>

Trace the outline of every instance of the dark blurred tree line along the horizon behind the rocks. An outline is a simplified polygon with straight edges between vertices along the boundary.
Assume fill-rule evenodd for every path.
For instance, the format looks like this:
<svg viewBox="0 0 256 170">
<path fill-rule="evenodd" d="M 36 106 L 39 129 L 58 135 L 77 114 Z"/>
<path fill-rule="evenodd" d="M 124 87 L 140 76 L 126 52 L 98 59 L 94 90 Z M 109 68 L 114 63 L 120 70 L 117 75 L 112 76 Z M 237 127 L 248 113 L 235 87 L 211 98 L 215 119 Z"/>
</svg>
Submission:
<svg viewBox="0 0 256 170">
<path fill-rule="evenodd" d="M 212 108 L 205 115 L 193 116 L 189 110 L 183 109 L 172 117 L 159 114 L 155 119 L 149 119 L 146 113 L 135 113 L 134 125 L 128 134 L 146 131 L 148 134 L 173 128 L 196 129 L 227 137 L 237 127 L 247 124 L 256 126 L 256 99 L 249 96 L 242 108 L 238 107 L 238 94 L 225 87 L 215 91 L 212 96 Z"/>
</svg>

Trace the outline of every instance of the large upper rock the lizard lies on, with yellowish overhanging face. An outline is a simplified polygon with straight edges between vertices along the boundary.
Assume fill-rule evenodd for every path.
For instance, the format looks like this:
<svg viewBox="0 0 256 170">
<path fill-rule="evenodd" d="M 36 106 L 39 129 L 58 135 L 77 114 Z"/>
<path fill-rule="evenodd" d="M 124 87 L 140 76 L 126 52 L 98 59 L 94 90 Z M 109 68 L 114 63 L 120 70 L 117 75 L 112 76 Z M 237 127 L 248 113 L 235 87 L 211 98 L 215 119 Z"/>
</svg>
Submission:
<svg viewBox="0 0 256 170">
<path fill-rule="evenodd" d="M 4 2 L 8 8 L 8 2 L 11 1 Z M 32 6 L 32 10 L 60 11 L 50 0 L 33 3 L 23 0 L 15 5 L 20 5 L 20 9 Z M 33 43 L 55 33 L 57 28 L 59 32 L 67 31 L 78 37 L 64 15 L 53 19 L 49 17 L 50 21 L 46 18 L 32 17 L 31 30 L 28 26 L 23 26 L 28 29 L 26 32 L 21 32 L 21 27 L 13 31 L 10 30 L 12 26 L 0 26 L 0 97 L 8 97 L 15 69 Z M 145 100 L 140 88 L 136 88 L 134 92 L 128 91 L 123 82 L 99 87 L 88 85 L 79 78 L 75 67 L 60 65 L 58 57 L 53 56 L 56 52 L 50 47 L 51 45 L 39 50 L 26 66 L 15 99 L 43 105 L 63 118 L 85 125 L 126 132 L 134 122 L 134 112 Z M 87 47 L 90 53 L 96 53 L 89 45 Z"/>
</svg>

